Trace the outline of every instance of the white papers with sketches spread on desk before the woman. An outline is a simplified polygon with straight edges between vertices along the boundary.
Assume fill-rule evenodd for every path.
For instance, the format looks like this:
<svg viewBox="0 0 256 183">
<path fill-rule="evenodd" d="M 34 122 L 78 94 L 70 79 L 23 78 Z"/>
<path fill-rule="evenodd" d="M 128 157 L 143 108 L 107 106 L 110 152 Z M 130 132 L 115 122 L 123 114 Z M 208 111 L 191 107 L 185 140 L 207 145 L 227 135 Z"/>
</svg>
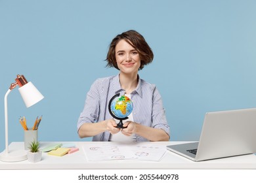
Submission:
<svg viewBox="0 0 256 183">
<path fill-rule="evenodd" d="M 132 159 L 141 161 L 160 161 L 166 152 L 166 146 L 150 143 L 109 144 L 95 143 L 83 145 L 88 161 L 106 161 Z"/>
</svg>

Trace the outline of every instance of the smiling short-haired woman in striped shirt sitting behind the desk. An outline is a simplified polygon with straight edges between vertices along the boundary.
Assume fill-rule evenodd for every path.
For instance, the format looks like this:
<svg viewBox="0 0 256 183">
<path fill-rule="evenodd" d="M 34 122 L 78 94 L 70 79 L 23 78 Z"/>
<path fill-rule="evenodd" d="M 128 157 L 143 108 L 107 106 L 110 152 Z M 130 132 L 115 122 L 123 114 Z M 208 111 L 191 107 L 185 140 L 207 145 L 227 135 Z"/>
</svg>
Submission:
<svg viewBox="0 0 256 183">
<path fill-rule="evenodd" d="M 117 35 L 111 42 L 106 61 L 119 75 L 97 79 L 87 93 L 85 107 L 77 122 L 80 138 L 93 141 L 169 141 L 169 125 L 161 95 L 154 84 L 142 80 L 138 71 L 151 63 L 154 54 L 137 31 Z M 133 112 L 123 121 L 123 129 L 108 111 L 117 93 L 133 102 Z"/>
</svg>

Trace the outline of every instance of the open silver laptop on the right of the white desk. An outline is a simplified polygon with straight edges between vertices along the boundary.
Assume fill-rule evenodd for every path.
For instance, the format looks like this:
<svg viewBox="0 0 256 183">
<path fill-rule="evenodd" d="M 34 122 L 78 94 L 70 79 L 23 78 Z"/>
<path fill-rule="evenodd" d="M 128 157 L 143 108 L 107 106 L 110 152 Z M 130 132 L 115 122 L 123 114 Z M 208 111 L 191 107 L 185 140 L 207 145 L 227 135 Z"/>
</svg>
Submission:
<svg viewBox="0 0 256 183">
<path fill-rule="evenodd" d="M 199 142 L 167 146 L 193 161 L 256 152 L 256 108 L 207 112 Z"/>
</svg>

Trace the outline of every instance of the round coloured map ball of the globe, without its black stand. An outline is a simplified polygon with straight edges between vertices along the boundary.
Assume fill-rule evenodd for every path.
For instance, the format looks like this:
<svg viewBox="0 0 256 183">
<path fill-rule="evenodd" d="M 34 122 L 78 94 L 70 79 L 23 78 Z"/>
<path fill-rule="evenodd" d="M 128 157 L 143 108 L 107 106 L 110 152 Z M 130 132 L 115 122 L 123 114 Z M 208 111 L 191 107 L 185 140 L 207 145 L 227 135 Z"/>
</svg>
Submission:
<svg viewBox="0 0 256 183">
<path fill-rule="evenodd" d="M 117 118 L 126 118 L 133 111 L 133 103 L 129 97 L 122 95 L 113 99 L 110 108 Z"/>
</svg>

